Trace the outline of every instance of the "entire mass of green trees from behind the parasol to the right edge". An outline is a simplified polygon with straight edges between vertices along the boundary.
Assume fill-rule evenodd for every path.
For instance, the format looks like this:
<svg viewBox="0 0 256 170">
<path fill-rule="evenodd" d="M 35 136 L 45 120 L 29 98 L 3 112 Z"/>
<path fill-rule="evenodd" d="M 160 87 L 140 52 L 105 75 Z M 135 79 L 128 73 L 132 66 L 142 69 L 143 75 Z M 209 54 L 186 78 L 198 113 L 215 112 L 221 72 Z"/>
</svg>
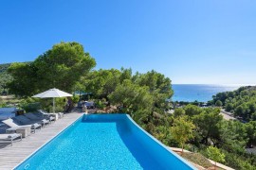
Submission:
<svg viewBox="0 0 256 170">
<path fill-rule="evenodd" d="M 92 71 L 95 65 L 95 59 L 83 51 L 81 44 L 61 42 L 32 62 L 12 63 L 9 91 L 23 97 L 54 87 L 69 93 L 83 91 L 98 108 L 113 107 L 112 112 L 130 114 L 163 144 L 185 147 L 206 157 L 213 155 L 216 161 L 225 157 L 226 164 L 236 169 L 256 168 L 256 156 L 245 152 L 246 146 L 256 144 L 255 89 L 218 93 L 211 101 L 251 120 L 243 124 L 224 120 L 220 108 L 197 107 L 197 101 L 176 108 L 175 102 L 172 105 L 167 100 L 173 95 L 171 79 L 154 70 L 145 74 L 133 74 L 132 69 L 124 68 Z M 78 97 L 73 100 L 77 102 Z M 56 103 L 57 110 L 63 110 L 64 100 L 59 98 Z M 26 98 L 20 104 L 27 111 L 37 110 L 40 105 L 49 110 L 51 100 Z M 167 113 L 172 107 L 174 114 Z"/>
</svg>

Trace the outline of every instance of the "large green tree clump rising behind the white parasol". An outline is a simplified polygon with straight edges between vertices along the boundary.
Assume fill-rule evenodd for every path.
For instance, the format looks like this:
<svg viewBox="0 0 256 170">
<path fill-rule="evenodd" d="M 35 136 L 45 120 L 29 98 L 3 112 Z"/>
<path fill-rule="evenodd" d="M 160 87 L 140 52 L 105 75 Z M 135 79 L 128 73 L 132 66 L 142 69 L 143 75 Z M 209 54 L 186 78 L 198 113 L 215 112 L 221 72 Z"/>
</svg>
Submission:
<svg viewBox="0 0 256 170">
<path fill-rule="evenodd" d="M 78 42 L 61 42 L 29 63 L 12 63 L 9 74 L 10 93 L 30 96 L 59 88 L 71 93 L 81 76 L 96 65 L 95 59 L 84 52 Z"/>
</svg>

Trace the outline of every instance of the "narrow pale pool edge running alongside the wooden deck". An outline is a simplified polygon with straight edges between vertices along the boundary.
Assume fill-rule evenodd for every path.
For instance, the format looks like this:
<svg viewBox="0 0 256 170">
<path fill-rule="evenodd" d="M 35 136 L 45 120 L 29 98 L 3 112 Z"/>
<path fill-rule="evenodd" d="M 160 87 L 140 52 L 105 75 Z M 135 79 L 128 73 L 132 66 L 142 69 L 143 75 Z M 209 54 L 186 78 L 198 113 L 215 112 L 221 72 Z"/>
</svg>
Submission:
<svg viewBox="0 0 256 170">
<path fill-rule="evenodd" d="M 77 113 L 77 112 L 76 112 Z M 73 122 L 70 123 L 70 125 L 64 127 L 63 129 L 61 129 L 59 132 L 57 132 L 54 136 L 52 136 L 51 138 L 49 138 L 45 144 L 39 146 L 36 150 L 34 150 L 31 154 L 29 154 L 23 161 L 20 161 L 16 166 L 14 166 L 12 169 L 16 169 L 18 166 L 20 166 L 24 161 L 27 161 L 27 159 L 29 159 L 32 155 L 36 154 L 41 148 L 43 148 L 46 144 L 50 143 L 52 140 L 54 140 L 55 138 L 57 138 L 57 136 L 61 135 L 66 128 L 73 126 L 77 121 L 79 121 L 79 119 L 82 118 L 82 116 L 85 113 L 78 113 L 81 114 L 77 119 L 75 119 Z M 61 120 L 60 120 L 61 121 Z"/>
</svg>

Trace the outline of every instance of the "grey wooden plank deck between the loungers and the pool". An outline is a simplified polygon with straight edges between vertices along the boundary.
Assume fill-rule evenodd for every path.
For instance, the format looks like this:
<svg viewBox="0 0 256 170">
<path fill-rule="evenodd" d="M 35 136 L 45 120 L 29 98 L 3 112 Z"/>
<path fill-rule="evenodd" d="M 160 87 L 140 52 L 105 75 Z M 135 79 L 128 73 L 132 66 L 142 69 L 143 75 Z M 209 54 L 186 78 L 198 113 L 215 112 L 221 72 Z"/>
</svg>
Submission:
<svg viewBox="0 0 256 170">
<path fill-rule="evenodd" d="M 13 169 L 81 116 L 82 113 L 75 112 L 64 114 L 64 118 L 41 130 L 36 130 L 36 133 L 30 134 L 22 141 L 14 142 L 12 146 L 10 144 L 0 144 L 0 170 Z"/>
</svg>

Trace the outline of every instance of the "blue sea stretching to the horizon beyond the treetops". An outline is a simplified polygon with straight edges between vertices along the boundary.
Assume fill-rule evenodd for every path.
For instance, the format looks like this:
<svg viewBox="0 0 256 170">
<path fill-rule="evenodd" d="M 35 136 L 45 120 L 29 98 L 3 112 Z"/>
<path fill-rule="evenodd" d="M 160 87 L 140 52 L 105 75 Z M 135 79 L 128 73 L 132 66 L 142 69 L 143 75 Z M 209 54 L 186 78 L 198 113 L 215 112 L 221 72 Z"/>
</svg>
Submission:
<svg viewBox="0 0 256 170">
<path fill-rule="evenodd" d="M 200 101 L 207 102 L 212 99 L 216 93 L 237 90 L 244 85 L 240 84 L 173 84 L 174 95 L 173 101 Z"/>
</svg>

